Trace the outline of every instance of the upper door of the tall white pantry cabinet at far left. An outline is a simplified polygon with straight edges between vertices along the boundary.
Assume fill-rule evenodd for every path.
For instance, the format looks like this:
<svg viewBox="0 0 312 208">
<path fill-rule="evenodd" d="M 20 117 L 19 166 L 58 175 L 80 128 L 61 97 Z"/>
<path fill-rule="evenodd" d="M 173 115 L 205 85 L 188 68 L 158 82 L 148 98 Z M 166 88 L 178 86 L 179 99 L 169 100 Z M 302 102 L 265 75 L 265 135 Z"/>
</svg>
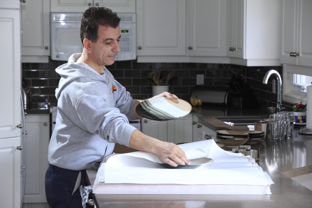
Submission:
<svg viewBox="0 0 312 208">
<path fill-rule="evenodd" d="M 20 137 L 21 48 L 20 11 L 0 9 L 0 139 Z"/>
</svg>

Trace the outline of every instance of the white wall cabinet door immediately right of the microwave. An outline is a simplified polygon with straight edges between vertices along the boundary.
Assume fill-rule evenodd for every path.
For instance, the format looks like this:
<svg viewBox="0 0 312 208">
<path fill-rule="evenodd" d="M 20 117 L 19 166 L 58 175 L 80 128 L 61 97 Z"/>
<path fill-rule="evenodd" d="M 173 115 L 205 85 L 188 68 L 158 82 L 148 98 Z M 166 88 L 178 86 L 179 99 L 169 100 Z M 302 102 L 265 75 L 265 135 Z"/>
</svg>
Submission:
<svg viewBox="0 0 312 208">
<path fill-rule="evenodd" d="M 137 55 L 186 55 L 186 0 L 137 0 Z"/>
</svg>

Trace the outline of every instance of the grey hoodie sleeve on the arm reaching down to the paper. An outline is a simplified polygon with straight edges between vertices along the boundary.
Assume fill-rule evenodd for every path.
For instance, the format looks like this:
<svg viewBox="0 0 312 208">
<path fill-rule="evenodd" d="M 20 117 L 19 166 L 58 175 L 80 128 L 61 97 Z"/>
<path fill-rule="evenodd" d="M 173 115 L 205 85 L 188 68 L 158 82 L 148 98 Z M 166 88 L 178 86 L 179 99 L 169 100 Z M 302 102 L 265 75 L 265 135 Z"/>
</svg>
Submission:
<svg viewBox="0 0 312 208">
<path fill-rule="evenodd" d="M 76 112 L 79 117 L 77 125 L 81 122 L 86 131 L 99 134 L 110 143 L 129 147 L 130 135 L 136 128 L 129 125 L 126 116 L 118 108 L 109 107 L 98 96 L 86 95 L 76 105 Z"/>
</svg>

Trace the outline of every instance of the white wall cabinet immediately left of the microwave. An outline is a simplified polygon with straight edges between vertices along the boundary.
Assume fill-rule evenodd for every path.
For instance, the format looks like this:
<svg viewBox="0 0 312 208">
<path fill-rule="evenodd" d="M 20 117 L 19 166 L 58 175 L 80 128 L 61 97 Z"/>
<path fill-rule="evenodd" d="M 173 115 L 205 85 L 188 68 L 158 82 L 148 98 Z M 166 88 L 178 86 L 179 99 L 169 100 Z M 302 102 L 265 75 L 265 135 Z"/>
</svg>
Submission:
<svg viewBox="0 0 312 208">
<path fill-rule="evenodd" d="M 21 3 L 22 62 L 49 62 L 50 1 Z"/>
</svg>

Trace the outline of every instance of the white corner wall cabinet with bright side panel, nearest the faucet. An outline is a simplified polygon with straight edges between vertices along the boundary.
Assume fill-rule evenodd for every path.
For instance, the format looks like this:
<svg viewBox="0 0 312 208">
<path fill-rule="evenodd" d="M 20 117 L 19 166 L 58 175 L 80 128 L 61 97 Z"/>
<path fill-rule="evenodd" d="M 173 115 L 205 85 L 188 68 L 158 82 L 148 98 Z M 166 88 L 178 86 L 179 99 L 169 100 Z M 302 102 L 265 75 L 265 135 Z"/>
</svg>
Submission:
<svg viewBox="0 0 312 208">
<path fill-rule="evenodd" d="M 231 63 L 280 65 L 280 1 L 229 0 L 227 6 Z"/>
</svg>

